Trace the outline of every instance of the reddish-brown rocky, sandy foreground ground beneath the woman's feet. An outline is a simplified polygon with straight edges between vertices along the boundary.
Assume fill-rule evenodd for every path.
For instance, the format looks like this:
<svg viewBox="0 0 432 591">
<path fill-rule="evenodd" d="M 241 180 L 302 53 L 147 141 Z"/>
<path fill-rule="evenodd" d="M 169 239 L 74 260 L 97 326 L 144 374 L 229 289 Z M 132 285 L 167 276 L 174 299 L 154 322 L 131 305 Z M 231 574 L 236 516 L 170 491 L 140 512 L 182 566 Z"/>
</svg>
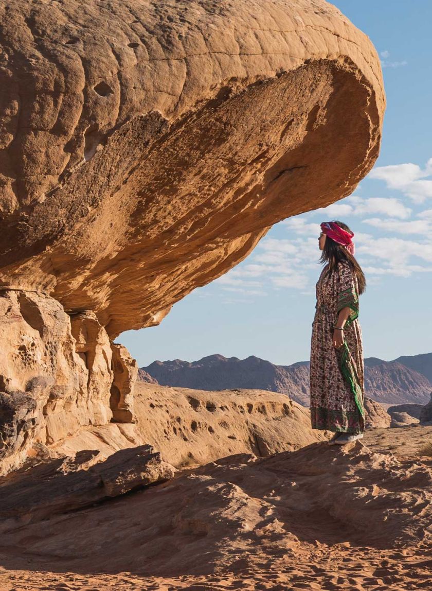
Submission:
<svg viewBox="0 0 432 591">
<path fill-rule="evenodd" d="M 1 591 L 430 589 L 432 426 L 239 453 L 2 528 Z M 25 548 L 25 551 L 23 550 Z"/>
</svg>

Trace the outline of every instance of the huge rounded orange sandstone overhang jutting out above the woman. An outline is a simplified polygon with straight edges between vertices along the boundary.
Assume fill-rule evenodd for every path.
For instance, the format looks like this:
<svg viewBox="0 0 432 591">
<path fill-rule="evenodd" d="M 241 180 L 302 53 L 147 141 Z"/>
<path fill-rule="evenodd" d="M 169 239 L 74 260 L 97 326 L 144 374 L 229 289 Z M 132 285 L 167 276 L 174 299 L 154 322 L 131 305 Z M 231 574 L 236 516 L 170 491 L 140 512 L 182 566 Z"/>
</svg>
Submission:
<svg viewBox="0 0 432 591">
<path fill-rule="evenodd" d="M 377 53 L 323 0 L 15 0 L 0 22 L 0 287 L 111 338 L 377 158 Z"/>
</svg>

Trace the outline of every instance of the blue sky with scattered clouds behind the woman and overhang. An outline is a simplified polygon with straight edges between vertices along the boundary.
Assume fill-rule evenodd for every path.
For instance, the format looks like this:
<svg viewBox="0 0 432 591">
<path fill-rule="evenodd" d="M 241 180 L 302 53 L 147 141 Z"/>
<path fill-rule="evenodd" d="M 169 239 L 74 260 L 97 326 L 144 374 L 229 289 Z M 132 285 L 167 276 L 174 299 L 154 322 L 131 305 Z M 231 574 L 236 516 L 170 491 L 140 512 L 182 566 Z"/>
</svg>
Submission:
<svg viewBox="0 0 432 591">
<path fill-rule="evenodd" d="M 381 56 L 387 111 L 374 169 L 352 196 L 271 228 L 245 261 L 174 304 L 159 326 L 117 337 L 139 366 L 212 353 L 289 365 L 309 359 L 319 223 L 355 233 L 368 287 L 365 357 L 432 351 L 431 0 L 340 0 Z"/>
</svg>

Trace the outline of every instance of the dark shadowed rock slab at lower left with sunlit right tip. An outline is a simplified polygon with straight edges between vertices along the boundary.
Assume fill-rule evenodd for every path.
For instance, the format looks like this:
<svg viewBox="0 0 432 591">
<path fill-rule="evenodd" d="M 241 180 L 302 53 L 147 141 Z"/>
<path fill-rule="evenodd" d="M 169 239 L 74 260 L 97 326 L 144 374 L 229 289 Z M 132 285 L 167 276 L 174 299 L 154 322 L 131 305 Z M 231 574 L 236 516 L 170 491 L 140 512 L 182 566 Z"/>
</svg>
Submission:
<svg viewBox="0 0 432 591">
<path fill-rule="evenodd" d="M 149 445 L 119 450 L 104 462 L 98 456 L 97 450 L 83 450 L 74 458 L 29 460 L 13 478 L 1 478 L 0 521 L 41 521 L 169 480 L 177 472 Z"/>
</svg>

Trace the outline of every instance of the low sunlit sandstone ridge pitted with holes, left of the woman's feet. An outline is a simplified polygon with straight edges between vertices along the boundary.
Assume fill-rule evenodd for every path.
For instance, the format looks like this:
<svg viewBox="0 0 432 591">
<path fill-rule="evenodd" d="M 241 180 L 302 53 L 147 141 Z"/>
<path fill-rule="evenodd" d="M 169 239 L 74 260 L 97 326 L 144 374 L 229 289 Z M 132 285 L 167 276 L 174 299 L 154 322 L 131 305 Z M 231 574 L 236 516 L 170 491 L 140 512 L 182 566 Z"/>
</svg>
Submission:
<svg viewBox="0 0 432 591">
<path fill-rule="evenodd" d="M 99 450 L 102 460 L 118 449 L 148 443 L 179 469 L 234 453 L 266 457 L 332 435 L 310 427 L 306 408 L 263 390 L 207 392 L 137 382 L 134 405 L 136 423 L 82 427 L 49 450 L 67 456 Z"/>
</svg>

